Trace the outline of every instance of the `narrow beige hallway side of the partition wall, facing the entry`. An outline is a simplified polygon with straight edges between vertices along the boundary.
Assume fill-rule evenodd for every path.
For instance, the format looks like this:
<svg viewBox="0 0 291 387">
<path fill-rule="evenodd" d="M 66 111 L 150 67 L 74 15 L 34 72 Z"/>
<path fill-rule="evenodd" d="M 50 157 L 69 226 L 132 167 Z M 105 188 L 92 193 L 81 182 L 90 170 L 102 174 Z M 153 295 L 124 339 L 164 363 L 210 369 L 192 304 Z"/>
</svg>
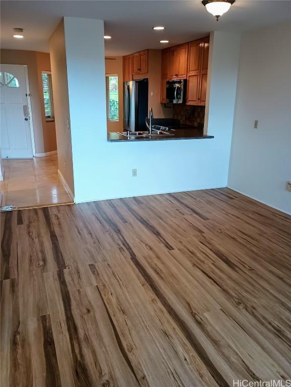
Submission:
<svg viewBox="0 0 291 387">
<path fill-rule="evenodd" d="M 67 67 L 63 21 L 49 39 L 58 169 L 74 194 Z M 90 139 L 89 139 L 90 141 Z"/>
</svg>

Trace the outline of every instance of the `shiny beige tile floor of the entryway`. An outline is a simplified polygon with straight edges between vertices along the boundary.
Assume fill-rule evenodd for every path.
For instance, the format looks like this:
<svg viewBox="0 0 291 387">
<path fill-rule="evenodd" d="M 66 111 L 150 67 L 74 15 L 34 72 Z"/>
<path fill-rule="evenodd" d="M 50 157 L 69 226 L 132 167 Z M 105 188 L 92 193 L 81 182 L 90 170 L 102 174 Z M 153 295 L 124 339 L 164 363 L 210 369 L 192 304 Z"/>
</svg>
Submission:
<svg viewBox="0 0 291 387">
<path fill-rule="evenodd" d="M 1 207 L 72 203 L 57 173 L 57 155 L 3 160 L 3 166 Z"/>
</svg>

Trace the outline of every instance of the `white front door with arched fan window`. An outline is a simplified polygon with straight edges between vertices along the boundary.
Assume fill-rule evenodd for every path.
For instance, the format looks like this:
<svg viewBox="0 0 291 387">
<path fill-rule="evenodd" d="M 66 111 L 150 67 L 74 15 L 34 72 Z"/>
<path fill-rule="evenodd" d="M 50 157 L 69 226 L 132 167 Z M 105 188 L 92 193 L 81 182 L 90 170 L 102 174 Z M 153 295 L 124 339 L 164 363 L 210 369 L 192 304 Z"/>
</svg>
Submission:
<svg viewBox="0 0 291 387">
<path fill-rule="evenodd" d="M 1 64 L 1 138 L 2 158 L 32 158 L 30 117 L 25 68 L 20 64 Z"/>
</svg>

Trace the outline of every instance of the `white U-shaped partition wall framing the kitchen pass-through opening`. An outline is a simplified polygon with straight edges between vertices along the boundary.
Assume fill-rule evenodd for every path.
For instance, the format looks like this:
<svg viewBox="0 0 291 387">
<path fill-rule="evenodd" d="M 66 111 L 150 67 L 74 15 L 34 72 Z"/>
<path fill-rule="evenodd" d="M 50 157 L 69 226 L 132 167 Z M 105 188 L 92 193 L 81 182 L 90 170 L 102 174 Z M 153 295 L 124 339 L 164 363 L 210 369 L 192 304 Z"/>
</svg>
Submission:
<svg viewBox="0 0 291 387">
<path fill-rule="evenodd" d="M 65 17 L 64 30 L 76 202 L 227 185 L 239 35 L 212 37 L 208 133 L 214 139 L 110 143 L 103 21 Z"/>
</svg>

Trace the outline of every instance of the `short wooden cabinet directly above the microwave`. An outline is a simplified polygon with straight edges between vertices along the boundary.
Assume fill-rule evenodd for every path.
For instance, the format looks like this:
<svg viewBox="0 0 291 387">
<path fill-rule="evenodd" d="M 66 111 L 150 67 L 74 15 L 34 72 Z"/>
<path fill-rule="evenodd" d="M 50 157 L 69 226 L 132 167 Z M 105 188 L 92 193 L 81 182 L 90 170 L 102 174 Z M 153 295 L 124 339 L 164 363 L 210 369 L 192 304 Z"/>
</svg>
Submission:
<svg viewBox="0 0 291 387">
<path fill-rule="evenodd" d="M 188 43 L 169 49 L 169 79 L 186 79 L 188 67 Z"/>
</svg>

